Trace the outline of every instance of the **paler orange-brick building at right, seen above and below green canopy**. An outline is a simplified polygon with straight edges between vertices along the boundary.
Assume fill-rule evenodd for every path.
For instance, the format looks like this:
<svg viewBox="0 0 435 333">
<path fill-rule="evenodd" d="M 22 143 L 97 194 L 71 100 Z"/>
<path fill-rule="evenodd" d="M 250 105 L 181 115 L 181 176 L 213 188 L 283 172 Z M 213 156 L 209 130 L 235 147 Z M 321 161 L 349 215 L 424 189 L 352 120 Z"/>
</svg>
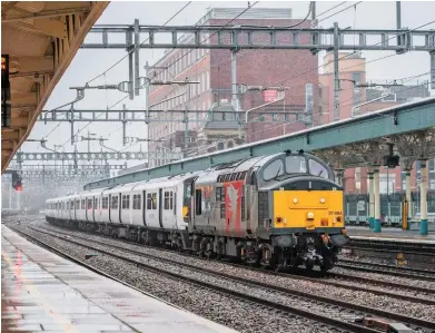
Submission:
<svg viewBox="0 0 435 333">
<path fill-rule="evenodd" d="M 324 58 L 324 72 L 319 75 L 319 99 L 318 108 L 314 115 L 315 125 L 327 124 L 334 120 L 346 119 L 354 114 L 360 115 L 375 110 L 388 108 L 403 102 L 412 101 L 416 98 L 425 98 L 431 96 L 427 85 L 416 86 L 398 86 L 392 87 L 393 95 L 383 99 L 369 102 L 358 107 L 365 101 L 370 101 L 380 98 L 385 92 L 383 89 L 374 88 L 355 88 L 354 81 L 366 82 L 366 59 L 360 52 L 344 58 L 347 53 L 339 53 L 339 114 L 334 112 L 334 55 L 327 53 Z M 435 166 L 434 160 L 428 161 L 429 168 L 429 188 L 435 189 Z M 399 167 L 395 169 L 380 168 L 380 193 L 395 193 L 405 189 L 405 173 Z M 417 189 L 417 179 L 419 178 L 419 164 L 414 164 L 411 182 L 412 189 Z M 346 193 L 366 194 L 368 188 L 367 168 L 349 168 L 346 169 L 344 176 Z"/>
</svg>

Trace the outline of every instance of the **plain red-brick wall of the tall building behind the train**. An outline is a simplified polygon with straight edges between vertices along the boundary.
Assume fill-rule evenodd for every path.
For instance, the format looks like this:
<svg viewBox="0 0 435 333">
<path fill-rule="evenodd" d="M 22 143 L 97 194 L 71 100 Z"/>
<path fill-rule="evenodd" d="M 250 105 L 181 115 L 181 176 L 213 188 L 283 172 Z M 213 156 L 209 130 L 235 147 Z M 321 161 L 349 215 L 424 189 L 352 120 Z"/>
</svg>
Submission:
<svg viewBox="0 0 435 333">
<path fill-rule="evenodd" d="M 264 26 L 293 26 L 299 20 L 237 20 L 237 25 L 264 25 Z M 228 20 L 210 20 L 209 25 L 226 25 Z M 310 27 L 310 21 L 300 27 Z M 212 37 L 211 39 L 214 39 Z M 254 41 L 265 43 L 266 37 L 257 38 Z M 307 37 L 300 37 L 305 42 Z M 277 36 L 283 40 L 283 36 Z M 224 42 L 228 38 L 223 38 Z M 239 42 L 246 39 L 239 38 Z M 247 86 L 279 86 L 284 82 L 286 90 L 285 104 L 295 105 L 297 109 L 305 109 L 305 85 L 313 84 L 314 110 L 317 108 L 318 75 L 313 70 L 318 66 L 318 57 L 313 56 L 309 50 L 241 50 L 237 52 L 237 84 Z M 307 74 L 305 74 L 307 72 Z M 304 75 L 303 75 L 304 74 Z M 218 92 L 218 100 L 231 99 L 231 61 L 229 50 L 211 51 L 211 75 L 210 86 Z M 246 111 L 253 107 L 264 104 L 260 92 L 247 92 L 240 100 L 241 110 Z M 279 101 L 277 105 L 283 105 Z M 286 108 L 288 109 L 288 108 Z M 260 110 L 259 110 L 260 111 Z M 253 115 L 258 117 L 258 115 Z M 303 129 L 303 124 L 286 125 L 286 134 Z M 248 124 L 247 140 L 260 140 L 281 135 L 283 124 Z"/>
</svg>

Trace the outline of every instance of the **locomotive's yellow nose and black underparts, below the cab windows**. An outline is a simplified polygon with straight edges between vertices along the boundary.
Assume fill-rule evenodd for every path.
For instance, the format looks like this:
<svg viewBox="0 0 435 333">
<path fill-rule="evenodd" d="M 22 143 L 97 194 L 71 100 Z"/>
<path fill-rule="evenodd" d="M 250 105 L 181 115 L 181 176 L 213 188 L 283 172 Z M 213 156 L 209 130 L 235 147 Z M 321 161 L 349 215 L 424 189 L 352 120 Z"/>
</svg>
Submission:
<svg viewBox="0 0 435 333">
<path fill-rule="evenodd" d="M 277 266 L 334 267 L 348 242 L 344 229 L 343 188 L 314 177 L 291 179 L 270 193 L 271 241 Z M 313 188 L 314 187 L 314 188 Z"/>
</svg>

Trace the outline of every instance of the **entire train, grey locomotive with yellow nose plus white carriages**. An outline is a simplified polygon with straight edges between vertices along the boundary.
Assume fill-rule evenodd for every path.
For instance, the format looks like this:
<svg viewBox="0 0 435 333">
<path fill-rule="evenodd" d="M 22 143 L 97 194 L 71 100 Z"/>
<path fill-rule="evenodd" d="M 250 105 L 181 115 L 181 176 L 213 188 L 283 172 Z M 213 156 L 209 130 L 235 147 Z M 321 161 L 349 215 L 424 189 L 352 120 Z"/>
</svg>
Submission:
<svg viewBox="0 0 435 333">
<path fill-rule="evenodd" d="M 276 270 L 334 266 L 348 242 L 343 188 L 314 155 L 286 151 L 47 200 L 47 219 Z"/>
</svg>

